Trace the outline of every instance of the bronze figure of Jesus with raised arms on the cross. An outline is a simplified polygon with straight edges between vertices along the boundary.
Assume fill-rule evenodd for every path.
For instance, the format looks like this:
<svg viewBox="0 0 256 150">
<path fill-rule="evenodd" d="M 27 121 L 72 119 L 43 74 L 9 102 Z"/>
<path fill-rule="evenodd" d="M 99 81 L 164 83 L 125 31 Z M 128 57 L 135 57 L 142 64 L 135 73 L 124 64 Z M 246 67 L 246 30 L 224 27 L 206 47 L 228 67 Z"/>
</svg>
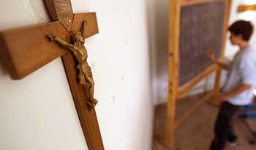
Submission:
<svg viewBox="0 0 256 150">
<path fill-rule="evenodd" d="M 48 35 L 48 39 L 50 41 L 57 42 L 62 47 L 70 50 L 75 59 L 78 61 L 77 69 L 78 69 L 78 79 L 80 84 L 89 85 L 89 99 L 86 100 L 86 103 L 94 107 L 98 103 L 98 101 L 94 98 L 94 79 L 91 73 L 91 67 L 87 63 L 87 50 L 84 46 L 86 34 L 85 34 L 86 22 L 83 23 L 83 28 L 81 31 L 72 35 L 72 44 L 65 42 L 63 39 L 60 39 L 56 35 Z"/>
</svg>

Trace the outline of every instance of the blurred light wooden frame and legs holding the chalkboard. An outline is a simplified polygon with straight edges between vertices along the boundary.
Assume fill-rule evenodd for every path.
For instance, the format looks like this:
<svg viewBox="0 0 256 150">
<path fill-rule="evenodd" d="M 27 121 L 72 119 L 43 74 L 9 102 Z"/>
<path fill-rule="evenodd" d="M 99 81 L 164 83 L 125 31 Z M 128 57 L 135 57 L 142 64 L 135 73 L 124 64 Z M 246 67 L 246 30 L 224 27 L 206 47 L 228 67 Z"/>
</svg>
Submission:
<svg viewBox="0 0 256 150">
<path fill-rule="evenodd" d="M 216 65 L 212 65 L 203 71 L 201 74 L 196 76 L 187 84 L 184 84 L 182 87 L 178 87 L 178 52 L 179 52 L 179 30 L 180 30 L 180 12 L 181 6 L 185 4 L 198 4 L 203 2 L 212 2 L 219 0 L 170 0 L 170 20 L 169 20 L 169 49 L 168 49 L 168 95 L 167 95 L 167 116 L 166 116 L 166 128 L 165 128 L 165 137 L 161 138 L 163 143 L 168 148 L 173 148 L 174 143 L 174 133 L 176 127 L 181 125 L 181 122 L 184 122 L 190 114 L 192 114 L 202 103 L 204 103 L 208 98 L 213 96 L 219 91 L 219 82 L 221 77 L 221 69 Z M 223 38 L 222 38 L 222 50 L 220 53 L 220 59 L 224 58 L 226 36 L 227 36 L 227 26 L 230 17 L 230 6 L 232 0 L 225 0 L 225 22 L 223 25 Z M 205 97 L 203 97 L 196 106 L 191 110 L 187 111 L 184 114 L 184 117 L 175 120 L 176 113 L 176 100 L 181 97 L 182 94 L 188 92 L 195 87 L 195 85 L 200 82 L 202 79 L 205 79 L 207 76 L 216 71 L 216 78 L 214 84 L 214 90 L 209 92 Z M 160 140 L 160 139 L 159 139 Z"/>
</svg>

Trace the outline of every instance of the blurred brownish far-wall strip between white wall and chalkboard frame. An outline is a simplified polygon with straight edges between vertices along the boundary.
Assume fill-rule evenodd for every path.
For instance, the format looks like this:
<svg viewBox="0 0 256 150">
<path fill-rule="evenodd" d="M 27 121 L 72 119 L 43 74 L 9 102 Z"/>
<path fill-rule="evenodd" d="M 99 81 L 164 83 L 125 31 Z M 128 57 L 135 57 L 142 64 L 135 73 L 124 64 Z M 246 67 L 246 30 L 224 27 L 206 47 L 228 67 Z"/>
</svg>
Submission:
<svg viewBox="0 0 256 150">
<path fill-rule="evenodd" d="M 167 99 L 169 0 L 148 2 L 148 42 L 151 50 L 151 71 L 154 103 Z"/>
</svg>

